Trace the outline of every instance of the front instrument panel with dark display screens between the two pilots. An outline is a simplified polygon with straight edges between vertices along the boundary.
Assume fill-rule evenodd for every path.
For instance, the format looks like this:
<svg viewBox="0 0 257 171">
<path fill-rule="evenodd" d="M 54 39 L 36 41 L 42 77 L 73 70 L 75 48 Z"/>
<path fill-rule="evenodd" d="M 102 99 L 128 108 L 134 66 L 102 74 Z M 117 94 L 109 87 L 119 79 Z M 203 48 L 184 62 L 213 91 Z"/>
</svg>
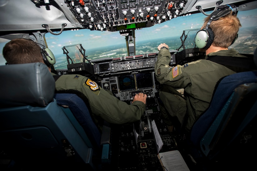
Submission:
<svg viewBox="0 0 257 171">
<path fill-rule="evenodd" d="M 175 61 L 171 52 L 171 63 Z M 101 77 L 98 84 L 105 90 L 112 91 L 121 101 L 133 100 L 137 93 L 144 93 L 147 98 L 155 97 L 159 92 L 159 82 L 155 79 L 157 53 L 92 60 L 94 74 Z"/>
</svg>

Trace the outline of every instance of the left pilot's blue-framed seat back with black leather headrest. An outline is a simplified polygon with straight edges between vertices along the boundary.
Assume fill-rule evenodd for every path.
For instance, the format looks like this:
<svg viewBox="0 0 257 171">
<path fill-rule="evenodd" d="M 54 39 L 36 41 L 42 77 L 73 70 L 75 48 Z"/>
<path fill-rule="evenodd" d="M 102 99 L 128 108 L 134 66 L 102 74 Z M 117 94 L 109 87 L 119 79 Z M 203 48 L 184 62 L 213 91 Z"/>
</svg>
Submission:
<svg viewBox="0 0 257 171">
<path fill-rule="evenodd" d="M 54 98 L 55 80 L 45 64 L 1 66 L 0 80 L 1 159 L 11 159 L 8 167 L 96 169 L 87 135 Z"/>
</svg>

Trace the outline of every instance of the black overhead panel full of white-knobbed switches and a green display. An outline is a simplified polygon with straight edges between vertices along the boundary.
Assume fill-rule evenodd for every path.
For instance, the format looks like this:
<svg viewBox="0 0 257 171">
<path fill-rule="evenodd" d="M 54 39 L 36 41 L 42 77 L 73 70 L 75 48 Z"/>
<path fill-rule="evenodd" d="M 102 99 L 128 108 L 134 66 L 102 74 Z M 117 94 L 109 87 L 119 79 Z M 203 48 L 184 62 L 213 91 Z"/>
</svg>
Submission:
<svg viewBox="0 0 257 171">
<path fill-rule="evenodd" d="M 136 30 L 176 18 L 187 0 L 66 0 L 83 28 L 99 31 Z"/>
</svg>

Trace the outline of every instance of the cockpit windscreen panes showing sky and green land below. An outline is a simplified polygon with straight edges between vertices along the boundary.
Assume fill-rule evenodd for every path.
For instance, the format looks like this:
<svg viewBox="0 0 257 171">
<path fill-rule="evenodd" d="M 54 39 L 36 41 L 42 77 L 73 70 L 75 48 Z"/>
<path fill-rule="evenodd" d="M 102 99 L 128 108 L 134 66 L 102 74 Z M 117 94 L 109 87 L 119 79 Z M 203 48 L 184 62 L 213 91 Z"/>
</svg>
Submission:
<svg viewBox="0 0 257 171">
<path fill-rule="evenodd" d="M 210 12 L 206 12 L 210 13 Z M 257 9 L 239 11 L 237 17 L 240 19 L 242 27 L 238 33 L 238 39 L 229 48 L 235 48 L 242 54 L 253 54 L 256 49 L 257 22 L 255 21 Z M 135 55 L 156 53 L 160 43 L 169 45 L 170 50 L 177 50 L 182 42 L 180 37 L 185 30 L 200 29 L 203 19 L 206 16 L 202 13 L 185 15 L 173 18 L 170 21 L 155 24 L 135 30 Z M 186 33 L 187 34 L 187 33 Z M 188 33 L 185 41 L 186 48 L 193 48 L 193 31 Z M 62 47 L 68 45 L 82 44 L 85 49 L 85 56 L 88 60 L 103 58 L 120 58 L 130 56 L 127 53 L 126 38 L 121 36 L 119 31 L 91 31 L 89 29 L 77 29 L 63 31 L 59 35 L 45 34 L 48 48 L 55 55 L 55 69 L 67 69 L 66 55 L 63 54 Z M 10 40 L 0 38 L 0 50 Z M 180 48 L 183 50 L 183 48 Z M 74 54 L 76 63 L 81 61 L 78 55 Z M 75 60 L 75 59 L 74 59 Z M 5 65 L 6 61 L 0 54 L 0 65 Z M 103 68 L 104 69 L 104 68 Z"/>
</svg>

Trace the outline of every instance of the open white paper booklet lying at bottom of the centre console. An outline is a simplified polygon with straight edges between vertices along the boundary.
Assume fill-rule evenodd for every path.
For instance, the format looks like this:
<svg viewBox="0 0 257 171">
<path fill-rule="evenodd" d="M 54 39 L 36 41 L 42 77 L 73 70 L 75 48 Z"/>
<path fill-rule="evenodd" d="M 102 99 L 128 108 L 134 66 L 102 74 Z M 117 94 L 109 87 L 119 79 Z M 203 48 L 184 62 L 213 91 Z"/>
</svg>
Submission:
<svg viewBox="0 0 257 171">
<path fill-rule="evenodd" d="M 189 168 L 178 150 L 158 154 L 164 171 L 189 171 Z"/>
</svg>

